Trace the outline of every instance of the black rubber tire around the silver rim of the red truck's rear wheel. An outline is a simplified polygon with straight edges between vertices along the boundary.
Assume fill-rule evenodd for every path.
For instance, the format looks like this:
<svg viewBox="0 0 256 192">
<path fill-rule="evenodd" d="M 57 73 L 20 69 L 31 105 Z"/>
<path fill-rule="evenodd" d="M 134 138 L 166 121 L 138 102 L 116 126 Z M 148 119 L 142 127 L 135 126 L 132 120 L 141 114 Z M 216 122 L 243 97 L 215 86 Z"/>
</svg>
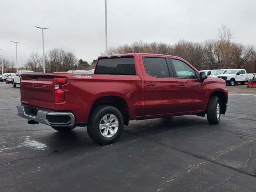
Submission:
<svg viewBox="0 0 256 192">
<path fill-rule="evenodd" d="M 116 116 L 118 120 L 118 129 L 116 130 L 116 133 L 113 136 L 110 136 L 109 138 L 103 136 L 104 133 L 102 133 L 99 128 L 102 118 L 104 116 L 107 116 L 108 114 L 112 114 Z M 111 126 L 111 124 L 109 125 Z M 113 106 L 108 106 L 108 105 L 100 106 L 94 109 L 93 112 L 90 114 L 88 124 L 87 124 L 88 135 L 94 142 L 100 145 L 107 145 L 107 144 L 112 144 L 116 142 L 120 138 L 123 132 L 123 129 L 124 129 L 124 118 L 122 116 L 122 113 L 117 108 Z M 106 130 L 106 128 L 103 128 L 102 130 L 103 132 L 105 132 L 104 130 Z M 106 133 L 108 135 L 110 131 L 106 130 Z"/>
</svg>

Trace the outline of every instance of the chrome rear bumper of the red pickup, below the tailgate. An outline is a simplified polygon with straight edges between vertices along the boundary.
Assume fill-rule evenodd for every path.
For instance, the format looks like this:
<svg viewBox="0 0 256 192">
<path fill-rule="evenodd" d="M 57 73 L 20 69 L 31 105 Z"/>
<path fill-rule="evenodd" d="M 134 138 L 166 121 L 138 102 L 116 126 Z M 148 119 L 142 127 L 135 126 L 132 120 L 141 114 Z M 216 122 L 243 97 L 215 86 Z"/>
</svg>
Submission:
<svg viewBox="0 0 256 192">
<path fill-rule="evenodd" d="M 56 112 L 54 110 L 37 108 L 30 105 L 17 105 L 18 116 L 34 120 L 49 126 L 71 127 L 75 124 L 75 116 L 71 112 Z M 36 112 L 30 112 L 33 109 Z"/>
</svg>

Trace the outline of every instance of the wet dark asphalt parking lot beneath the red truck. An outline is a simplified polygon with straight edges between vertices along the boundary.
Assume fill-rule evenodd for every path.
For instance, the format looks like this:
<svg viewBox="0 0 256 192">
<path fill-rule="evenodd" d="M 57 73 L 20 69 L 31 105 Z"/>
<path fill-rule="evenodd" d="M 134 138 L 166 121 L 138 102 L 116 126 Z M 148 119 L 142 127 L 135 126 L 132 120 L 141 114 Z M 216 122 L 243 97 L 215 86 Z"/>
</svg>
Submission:
<svg viewBox="0 0 256 192">
<path fill-rule="evenodd" d="M 248 88 L 249 89 L 249 88 Z M 132 121 L 100 146 L 86 128 L 60 133 L 16 115 L 20 88 L 0 83 L 0 191 L 256 191 L 256 90 L 206 117 Z"/>
</svg>

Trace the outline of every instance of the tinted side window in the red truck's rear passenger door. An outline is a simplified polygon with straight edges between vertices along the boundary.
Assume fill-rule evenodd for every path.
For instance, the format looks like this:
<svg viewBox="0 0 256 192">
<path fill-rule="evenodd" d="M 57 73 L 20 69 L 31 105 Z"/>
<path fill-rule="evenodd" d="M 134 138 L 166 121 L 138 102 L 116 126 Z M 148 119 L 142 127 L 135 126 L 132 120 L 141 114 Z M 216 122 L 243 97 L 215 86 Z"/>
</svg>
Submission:
<svg viewBox="0 0 256 192">
<path fill-rule="evenodd" d="M 154 77 L 170 77 L 165 58 L 144 57 L 147 74 Z"/>
</svg>

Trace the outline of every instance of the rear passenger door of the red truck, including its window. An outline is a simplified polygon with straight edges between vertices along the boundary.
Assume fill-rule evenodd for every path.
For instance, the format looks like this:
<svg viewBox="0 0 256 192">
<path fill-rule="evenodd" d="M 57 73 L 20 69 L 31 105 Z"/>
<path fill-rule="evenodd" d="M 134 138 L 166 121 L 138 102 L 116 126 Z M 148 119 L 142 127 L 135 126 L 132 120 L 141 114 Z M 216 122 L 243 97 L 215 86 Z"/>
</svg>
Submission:
<svg viewBox="0 0 256 192">
<path fill-rule="evenodd" d="M 144 65 L 146 115 L 168 114 L 177 110 L 177 83 L 168 58 L 140 56 Z"/>
</svg>

